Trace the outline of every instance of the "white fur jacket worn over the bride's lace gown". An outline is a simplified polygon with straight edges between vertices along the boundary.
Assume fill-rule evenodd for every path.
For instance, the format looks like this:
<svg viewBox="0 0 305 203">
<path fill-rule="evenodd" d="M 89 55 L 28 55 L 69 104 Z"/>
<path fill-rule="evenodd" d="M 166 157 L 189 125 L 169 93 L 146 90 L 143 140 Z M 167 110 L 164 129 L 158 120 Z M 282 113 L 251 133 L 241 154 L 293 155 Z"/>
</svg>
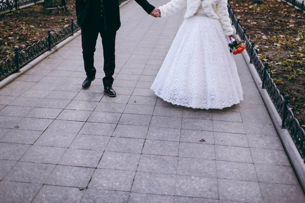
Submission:
<svg viewBox="0 0 305 203">
<path fill-rule="evenodd" d="M 161 11 L 161 17 L 166 17 L 187 6 L 185 18 L 189 18 L 198 11 L 200 4 L 202 4 L 202 8 L 208 17 L 220 20 L 227 36 L 233 34 L 227 0 L 172 0 L 166 5 L 159 7 L 159 9 Z"/>
</svg>

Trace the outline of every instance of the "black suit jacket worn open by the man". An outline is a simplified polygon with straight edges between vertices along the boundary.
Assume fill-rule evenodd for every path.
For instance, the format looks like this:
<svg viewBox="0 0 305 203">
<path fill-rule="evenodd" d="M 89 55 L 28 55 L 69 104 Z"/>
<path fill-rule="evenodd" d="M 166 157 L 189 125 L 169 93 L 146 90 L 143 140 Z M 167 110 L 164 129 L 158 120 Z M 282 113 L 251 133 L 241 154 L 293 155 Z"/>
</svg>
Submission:
<svg viewBox="0 0 305 203">
<path fill-rule="evenodd" d="M 148 14 L 155 9 L 146 0 L 135 0 Z M 89 0 L 75 0 L 77 23 L 82 27 L 87 15 Z M 103 0 L 105 28 L 118 30 L 120 27 L 119 0 Z"/>
</svg>

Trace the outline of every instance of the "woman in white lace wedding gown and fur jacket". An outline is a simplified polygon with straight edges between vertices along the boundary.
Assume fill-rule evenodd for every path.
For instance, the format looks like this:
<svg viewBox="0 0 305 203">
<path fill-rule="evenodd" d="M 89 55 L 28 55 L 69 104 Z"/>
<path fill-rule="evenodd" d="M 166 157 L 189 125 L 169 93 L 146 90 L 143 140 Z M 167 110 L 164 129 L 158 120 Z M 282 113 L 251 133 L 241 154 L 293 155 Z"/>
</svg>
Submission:
<svg viewBox="0 0 305 203">
<path fill-rule="evenodd" d="M 172 0 L 157 17 L 187 6 L 185 20 L 151 86 L 174 105 L 223 109 L 239 104 L 242 88 L 228 39 L 234 38 L 227 0 Z"/>
</svg>

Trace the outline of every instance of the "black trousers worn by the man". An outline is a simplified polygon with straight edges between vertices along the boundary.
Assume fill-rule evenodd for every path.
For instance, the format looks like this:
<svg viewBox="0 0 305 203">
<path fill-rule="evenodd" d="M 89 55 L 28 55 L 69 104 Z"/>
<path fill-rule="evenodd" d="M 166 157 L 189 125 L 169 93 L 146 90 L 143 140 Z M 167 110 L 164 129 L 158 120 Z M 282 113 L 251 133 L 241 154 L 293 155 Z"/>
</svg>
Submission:
<svg viewBox="0 0 305 203">
<path fill-rule="evenodd" d="M 81 43 L 86 75 L 94 78 L 97 70 L 94 67 L 94 52 L 99 33 L 102 37 L 104 52 L 104 86 L 112 86 L 115 69 L 115 36 L 116 31 L 106 30 L 105 26 L 87 25 L 81 28 Z"/>
</svg>

